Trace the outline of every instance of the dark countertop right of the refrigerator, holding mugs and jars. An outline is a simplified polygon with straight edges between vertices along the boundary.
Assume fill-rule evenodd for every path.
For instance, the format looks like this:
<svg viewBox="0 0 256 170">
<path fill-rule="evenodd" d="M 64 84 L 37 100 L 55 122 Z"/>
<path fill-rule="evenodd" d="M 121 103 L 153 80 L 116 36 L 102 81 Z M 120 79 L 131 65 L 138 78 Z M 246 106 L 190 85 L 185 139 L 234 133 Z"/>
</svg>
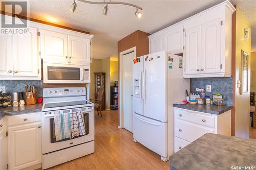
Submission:
<svg viewBox="0 0 256 170">
<path fill-rule="evenodd" d="M 185 104 L 185 105 L 178 105 L 174 104 L 174 107 L 187 109 L 187 110 L 194 110 L 204 113 L 210 113 L 210 114 L 221 114 L 228 110 L 232 109 L 232 106 L 216 106 L 216 105 L 191 105 L 191 104 Z"/>
</svg>

